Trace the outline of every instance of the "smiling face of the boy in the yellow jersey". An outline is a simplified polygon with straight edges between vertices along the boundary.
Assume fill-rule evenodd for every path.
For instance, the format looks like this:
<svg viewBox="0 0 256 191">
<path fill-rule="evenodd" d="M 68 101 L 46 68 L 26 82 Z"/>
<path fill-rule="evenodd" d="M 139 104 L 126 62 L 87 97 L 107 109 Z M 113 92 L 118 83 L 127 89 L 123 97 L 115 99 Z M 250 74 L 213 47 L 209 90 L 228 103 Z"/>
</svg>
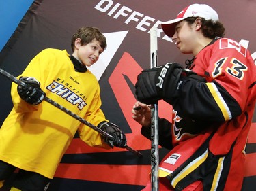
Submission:
<svg viewBox="0 0 256 191">
<path fill-rule="evenodd" d="M 101 48 L 100 42 L 96 39 L 82 46 L 80 44 L 80 39 L 76 39 L 73 56 L 83 65 L 89 67 L 96 63 L 103 51 L 104 50 Z"/>
</svg>

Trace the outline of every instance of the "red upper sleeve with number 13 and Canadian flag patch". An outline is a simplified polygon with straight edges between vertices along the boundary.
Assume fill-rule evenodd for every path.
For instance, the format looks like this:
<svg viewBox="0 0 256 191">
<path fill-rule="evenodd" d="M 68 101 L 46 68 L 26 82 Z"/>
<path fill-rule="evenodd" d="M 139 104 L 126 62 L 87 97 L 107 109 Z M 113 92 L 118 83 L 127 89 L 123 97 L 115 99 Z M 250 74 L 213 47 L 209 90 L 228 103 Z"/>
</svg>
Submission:
<svg viewBox="0 0 256 191">
<path fill-rule="evenodd" d="M 222 86 L 244 110 L 248 97 L 248 87 L 253 83 L 250 77 L 255 74 L 249 70 L 253 59 L 246 48 L 231 39 L 219 39 L 211 48 L 205 77 L 208 82 L 215 81 Z M 205 55 L 209 54 L 205 52 Z"/>
</svg>

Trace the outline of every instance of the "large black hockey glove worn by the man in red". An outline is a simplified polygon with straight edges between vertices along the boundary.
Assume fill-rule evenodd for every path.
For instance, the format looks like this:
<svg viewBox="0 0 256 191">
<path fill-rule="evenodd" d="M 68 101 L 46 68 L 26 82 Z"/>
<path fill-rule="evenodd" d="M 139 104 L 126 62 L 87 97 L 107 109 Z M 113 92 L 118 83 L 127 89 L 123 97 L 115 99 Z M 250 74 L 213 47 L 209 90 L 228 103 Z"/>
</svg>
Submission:
<svg viewBox="0 0 256 191">
<path fill-rule="evenodd" d="M 135 84 L 137 99 L 146 104 L 169 99 L 177 89 L 182 71 L 184 68 L 178 63 L 167 63 L 142 71 Z"/>
</svg>

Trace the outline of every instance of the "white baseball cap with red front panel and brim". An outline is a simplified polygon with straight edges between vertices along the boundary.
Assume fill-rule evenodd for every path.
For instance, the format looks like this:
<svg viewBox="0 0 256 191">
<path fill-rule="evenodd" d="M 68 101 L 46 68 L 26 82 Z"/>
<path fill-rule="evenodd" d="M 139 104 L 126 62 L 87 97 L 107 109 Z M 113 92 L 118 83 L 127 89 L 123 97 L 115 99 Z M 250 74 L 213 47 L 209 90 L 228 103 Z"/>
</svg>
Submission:
<svg viewBox="0 0 256 191">
<path fill-rule="evenodd" d="M 212 19 L 213 21 L 218 21 L 218 14 L 214 9 L 212 9 L 212 7 L 205 4 L 193 4 L 184 8 L 184 10 L 177 14 L 177 18 L 167 22 L 162 22 L 162 30 L 167 36 L 173 37 L 177 22 L 188 17 L 201 17 L 205 18 L 205 20 Z"/>
</svg>

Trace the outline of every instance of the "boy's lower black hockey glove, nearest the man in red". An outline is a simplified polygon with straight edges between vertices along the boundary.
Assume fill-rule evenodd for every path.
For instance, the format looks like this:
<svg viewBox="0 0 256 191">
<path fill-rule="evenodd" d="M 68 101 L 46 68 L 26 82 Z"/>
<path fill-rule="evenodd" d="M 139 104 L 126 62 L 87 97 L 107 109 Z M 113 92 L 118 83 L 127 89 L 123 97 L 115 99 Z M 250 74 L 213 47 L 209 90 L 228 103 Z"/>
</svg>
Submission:
<svg viewBox="0 0 256 191">
<path fill-rule="evenodd" d="M 112 148 L 114 146 L 124 148 L 126 147 L 127 140 L 126 135 L 120 130 L 120 128 L 111 122 L 101 122 L 98 124 L 98 128 L 102 129 L 109 135 L 112 135 L 114 138 L 109 139 L 108 137 L 105 138 L 105 142 L 109 144 Z"/>
</svg>

